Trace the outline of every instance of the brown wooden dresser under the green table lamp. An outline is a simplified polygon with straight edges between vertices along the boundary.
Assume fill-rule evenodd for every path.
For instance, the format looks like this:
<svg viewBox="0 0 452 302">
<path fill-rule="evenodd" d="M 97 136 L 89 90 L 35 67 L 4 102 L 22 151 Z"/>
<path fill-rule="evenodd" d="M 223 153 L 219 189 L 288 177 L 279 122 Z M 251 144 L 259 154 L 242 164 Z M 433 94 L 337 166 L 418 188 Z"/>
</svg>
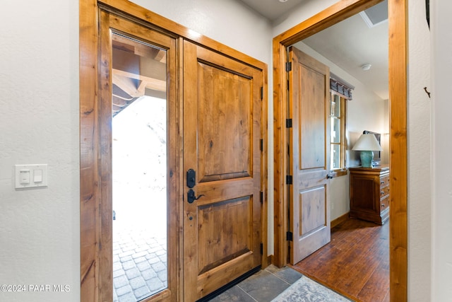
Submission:
<svg viewBox="0 0 452 302">
<path fill-rule="evenodd" d="M 350 217 L 383 224 L 389 218 L 389 166 L 350 170 Z"/>
</svg>

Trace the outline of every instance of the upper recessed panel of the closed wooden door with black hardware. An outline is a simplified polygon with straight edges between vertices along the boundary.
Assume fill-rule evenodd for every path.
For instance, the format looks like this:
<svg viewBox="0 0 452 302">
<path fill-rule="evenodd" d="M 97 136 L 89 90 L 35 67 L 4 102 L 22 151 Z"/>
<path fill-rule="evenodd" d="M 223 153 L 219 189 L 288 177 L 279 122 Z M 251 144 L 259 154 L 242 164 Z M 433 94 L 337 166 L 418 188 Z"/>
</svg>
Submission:
<svg viewBox="0 0 452 302">
<path fill-rule="evenodd" d="M 203 83 L 203 89 L 198 89 L 198 97 L 203 100 L 198 104 L 198 116 L 208 117 L 196 121 L 199 181 L 251 176 L 252 104 L 246 102 L 251 82 L 201 62 L 198 76 Z"/>
</svg>

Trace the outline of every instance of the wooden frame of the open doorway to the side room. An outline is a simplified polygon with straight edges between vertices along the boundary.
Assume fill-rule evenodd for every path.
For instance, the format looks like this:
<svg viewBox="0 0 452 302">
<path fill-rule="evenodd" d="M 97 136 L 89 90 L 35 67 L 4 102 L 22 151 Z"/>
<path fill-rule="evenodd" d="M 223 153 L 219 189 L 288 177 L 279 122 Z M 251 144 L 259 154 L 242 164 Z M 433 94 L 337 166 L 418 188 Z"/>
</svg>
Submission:
<svg viewBox="0 0 452 302">
<path fill-rule="evenodd" d="M 382 0 L 343 0 L 273 38 L 274 213 L 273 263 L 287 264 L 287 74 L 286 47 L 334 25 Z M 407 69 L 408 0 L 388 0 L 390 112 L 390 292 L 391 301 L 408 300 Z"/>
</svg>

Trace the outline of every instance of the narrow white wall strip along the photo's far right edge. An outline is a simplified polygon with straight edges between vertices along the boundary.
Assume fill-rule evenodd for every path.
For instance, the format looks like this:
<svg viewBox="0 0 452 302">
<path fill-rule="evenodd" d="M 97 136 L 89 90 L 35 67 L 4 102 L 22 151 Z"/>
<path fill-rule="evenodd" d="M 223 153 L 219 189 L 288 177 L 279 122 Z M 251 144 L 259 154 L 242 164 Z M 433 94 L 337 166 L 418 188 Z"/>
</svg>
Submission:
<svg viewBox="0 0 452 302">
<path fill-rule="evenodd" d="M 431 0 L 430 2 L 432 10 L 430 14 L 432 83 L 428 86 L 432 87 L 432 100 L 430 102 L 432 103 L 431 122 L 433 128 L 431 158 L 433 191 L 432 298 L 430 301 L 450 301 L 452 296 L 452 140 L 450 139 L 452 129 L 452 103 L 450 101 L 452 95 L 452 33 L 450 30 L 452 28 L 452 2 L 443 0 Z M 428 40 L 422 39 L 422 42 L 428 42 Z M 427 110 L 424 110 L 423 113 L 427 113 Z M 419 200 L 417 202 L 418 208 L 423 209 L 423 204 L 428 203 L 427 201 Z M 428 209 L 426 210 L 428 211 Z M 421 214 L 420 211 L 419 214 Z M 415 236 L 415 234 L 412 236 Z M 410 236 L 410 239 L 412 236 Z M 424 242 L 427 242 L 427 238 Z M 430 254 L 424 252 L 424 255 L 429 256 Z M 420 260 L 420 258 L 413 259 L 417 262 Z M 428 259 L 425 260 L 428 261 Z"/>
</svg>

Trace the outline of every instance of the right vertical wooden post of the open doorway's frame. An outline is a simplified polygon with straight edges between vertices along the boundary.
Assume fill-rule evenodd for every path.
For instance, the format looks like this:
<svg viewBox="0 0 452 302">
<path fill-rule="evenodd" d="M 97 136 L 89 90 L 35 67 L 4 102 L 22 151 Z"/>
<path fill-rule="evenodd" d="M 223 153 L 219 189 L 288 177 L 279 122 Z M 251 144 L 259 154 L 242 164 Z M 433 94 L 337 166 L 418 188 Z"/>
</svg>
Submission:
<svg viewBox="0 0 452 302">
<path fill-rule="evenodd" d="M 408 301 L 408 0 L 388 1 L 391 301 Z"/>
</svg>

